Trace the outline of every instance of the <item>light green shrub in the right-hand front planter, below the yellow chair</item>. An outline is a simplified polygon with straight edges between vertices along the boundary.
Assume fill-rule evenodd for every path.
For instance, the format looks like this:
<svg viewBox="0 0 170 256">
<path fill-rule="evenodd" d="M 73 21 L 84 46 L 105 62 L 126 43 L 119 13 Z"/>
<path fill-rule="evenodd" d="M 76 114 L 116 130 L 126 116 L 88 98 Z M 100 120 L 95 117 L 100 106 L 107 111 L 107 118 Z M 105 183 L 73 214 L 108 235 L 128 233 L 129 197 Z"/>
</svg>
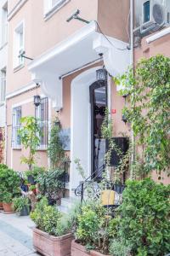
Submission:
<svg viewBox="0 0 170 256">
<path fill-rule="evenodd" d="M 77 217 L 76 241 L 72 242 L 71 255 L 106 255 L 109 254 L 109 241 L 113 236 L 109 209 L 99 201 L 88 201 L 82 206 Z"/>
</svg>

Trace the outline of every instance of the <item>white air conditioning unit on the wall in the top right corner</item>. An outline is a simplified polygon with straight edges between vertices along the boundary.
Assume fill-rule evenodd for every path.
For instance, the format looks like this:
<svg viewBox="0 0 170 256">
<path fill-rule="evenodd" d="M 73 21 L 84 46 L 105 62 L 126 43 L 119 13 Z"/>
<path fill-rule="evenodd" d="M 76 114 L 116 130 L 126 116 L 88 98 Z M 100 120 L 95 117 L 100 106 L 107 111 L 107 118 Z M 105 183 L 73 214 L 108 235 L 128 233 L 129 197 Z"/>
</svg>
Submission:
<svg viewBox="0 0 170 256">
<path fill-rule="evenodd" d="M 140 33 L 143 34 L 169 23 L 169 8 L 166 0 L 142 0 Z"/>
</svg>

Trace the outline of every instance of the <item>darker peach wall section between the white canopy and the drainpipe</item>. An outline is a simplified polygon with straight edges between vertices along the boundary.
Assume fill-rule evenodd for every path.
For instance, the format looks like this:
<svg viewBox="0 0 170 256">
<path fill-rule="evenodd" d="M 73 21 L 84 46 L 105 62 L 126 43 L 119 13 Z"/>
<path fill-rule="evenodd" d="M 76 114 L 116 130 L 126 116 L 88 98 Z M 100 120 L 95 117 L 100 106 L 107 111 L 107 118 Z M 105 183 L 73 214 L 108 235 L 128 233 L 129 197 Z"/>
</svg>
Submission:
<svg viewBox="0 0 170 256">
<path fill-rule="evenodd" d="M 128 42 L 129 0 L 99 0 L 98 22 L 106 35 Z"/>
</svg>

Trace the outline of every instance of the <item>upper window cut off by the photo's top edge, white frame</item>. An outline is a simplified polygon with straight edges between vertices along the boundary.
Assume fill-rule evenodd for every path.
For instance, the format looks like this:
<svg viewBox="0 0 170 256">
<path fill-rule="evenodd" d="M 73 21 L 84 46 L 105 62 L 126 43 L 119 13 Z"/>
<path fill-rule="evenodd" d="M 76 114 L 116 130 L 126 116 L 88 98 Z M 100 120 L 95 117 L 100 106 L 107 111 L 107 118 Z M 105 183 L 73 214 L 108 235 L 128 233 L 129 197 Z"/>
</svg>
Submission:
<svg viewBox="0 0 170 256">
<path fill-rule="evenodd" d="M 54 14 L 60 7 L 70 0 L 44 0 L 45 18 Z"/>
</svg>

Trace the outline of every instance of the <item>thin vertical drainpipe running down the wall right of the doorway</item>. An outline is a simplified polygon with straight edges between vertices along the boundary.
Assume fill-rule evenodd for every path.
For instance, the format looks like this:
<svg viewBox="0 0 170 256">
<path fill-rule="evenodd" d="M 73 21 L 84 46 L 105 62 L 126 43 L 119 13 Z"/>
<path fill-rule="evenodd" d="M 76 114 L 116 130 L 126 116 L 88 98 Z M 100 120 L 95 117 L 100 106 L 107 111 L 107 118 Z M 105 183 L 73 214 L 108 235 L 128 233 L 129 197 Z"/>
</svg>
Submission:
<svg viewBox="0 0 170 256">
<path fill-rule="evenodd" d="M 133 67 L 133 0 L 130 0 L 130 65 L 131 67 Z M 133 96 L 132 96 L 133 97 Z M 131 129 L 131 140 L 132 140 L 132 155 L 131 155 L 131 170 L 130 170 L 130 178 L 133 179 L 133 168 L 132 168 L 132 164 L 135 161 L 135 137 L 134 137 L 134 133 L 133 130 Z"/>
</svg>

